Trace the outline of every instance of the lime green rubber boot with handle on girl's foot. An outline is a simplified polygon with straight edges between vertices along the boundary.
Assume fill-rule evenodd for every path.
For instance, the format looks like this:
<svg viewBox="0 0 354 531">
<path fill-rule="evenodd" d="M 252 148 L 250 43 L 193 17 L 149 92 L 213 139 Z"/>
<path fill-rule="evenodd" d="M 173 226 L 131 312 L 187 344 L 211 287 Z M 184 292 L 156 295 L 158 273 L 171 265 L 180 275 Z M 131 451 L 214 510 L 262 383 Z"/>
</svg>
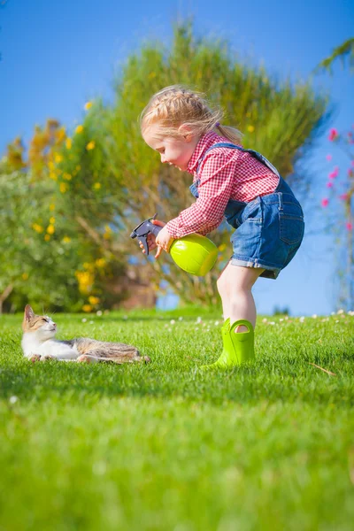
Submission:
<svg viewBox="0 0 354 531">
<path fill-rule="evenodd" d="M 248 332 L 235 332 L 235 328 L 241 325 L 247 327 Z M 219 359 L 212 365 L 201 366 L 202 370 L 235 367 L 255 358 L 254 330 L 250 321 L 239 319 L 230 327 L 230 319 L 227 319 L 221 328 L 221 335 L 224 348 Z"/>
</svg>

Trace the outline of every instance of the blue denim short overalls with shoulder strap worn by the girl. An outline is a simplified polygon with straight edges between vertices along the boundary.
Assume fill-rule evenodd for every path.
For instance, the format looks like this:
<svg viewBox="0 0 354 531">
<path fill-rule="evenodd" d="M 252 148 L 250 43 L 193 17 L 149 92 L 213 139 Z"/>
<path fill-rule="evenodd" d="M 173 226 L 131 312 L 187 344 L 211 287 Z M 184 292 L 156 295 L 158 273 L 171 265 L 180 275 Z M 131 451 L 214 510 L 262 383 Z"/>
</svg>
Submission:
<svg viewBox="0 0 354 531">
<path fill-rule="evenodd" d="M 265 271 L 260 276 L 276 279 L 281 269 L 294 258 L 303 240 L 304 212 L 289 184 L 263 155 L 233 143 L 218 142 L 205 151 L 204 157 L 214 148 L 246 151 L 279 177 L 272 194 L 258 196 L 250 203 L 230 199 L 224 212 L 227 223 L 236 229 L 231 236 L 234 249 L 231 263 L 262 267 Z M 197 166 L 196 181 L 189 187 L 196 198 L 200 183 L 198 173 L 204 157 Z"/>
</svg>

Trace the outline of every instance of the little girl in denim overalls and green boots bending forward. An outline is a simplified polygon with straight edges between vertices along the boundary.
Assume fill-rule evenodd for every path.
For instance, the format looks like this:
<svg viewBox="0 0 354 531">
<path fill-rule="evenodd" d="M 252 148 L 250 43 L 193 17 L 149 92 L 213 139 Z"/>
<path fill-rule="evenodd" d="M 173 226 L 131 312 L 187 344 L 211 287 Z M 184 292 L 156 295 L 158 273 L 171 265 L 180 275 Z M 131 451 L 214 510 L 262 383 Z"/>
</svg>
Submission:
<svg viewBox="0 0 354 531">
<path fill-rule="evenodd" d="M 176 238 L 207 235 L 225 217 L 234 227 L 233 255 L 217 282 L 225 323 L 223 351 L 214 367 L 254 358 L 256 306 L 251 289 L 259 276 L 276 279 L 294 258 L 304 236 L 304 214 L 276 168 L 241 145 L 241 133 L 220 124 L 222 112 L 181 86 L 152 96 L 142 112 L 144 141 L 161 162 L 194 176 L 196 202 L 150 236 L 149 249 L 168 252 Z M 210 366 L 206 366 L 210 367 Z"/>
</svg>

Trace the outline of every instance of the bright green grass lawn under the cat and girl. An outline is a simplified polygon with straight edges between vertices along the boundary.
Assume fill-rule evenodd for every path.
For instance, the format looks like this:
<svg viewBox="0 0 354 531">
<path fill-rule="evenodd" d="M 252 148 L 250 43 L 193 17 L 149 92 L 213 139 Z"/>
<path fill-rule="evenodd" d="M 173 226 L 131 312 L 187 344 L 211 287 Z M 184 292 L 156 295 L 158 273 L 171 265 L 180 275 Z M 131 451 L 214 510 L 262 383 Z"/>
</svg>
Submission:
<svg viewBox="0 0 354 531">
<path fill-rule="evenodd" d="M 147 366 L 30 364 L 0 319 L 1 531 L 353 529 L 354 317 L 260 318 L 253 366 L 201 373 L 221 319 L 188 313 L 56 316 Z"/>
</svg>

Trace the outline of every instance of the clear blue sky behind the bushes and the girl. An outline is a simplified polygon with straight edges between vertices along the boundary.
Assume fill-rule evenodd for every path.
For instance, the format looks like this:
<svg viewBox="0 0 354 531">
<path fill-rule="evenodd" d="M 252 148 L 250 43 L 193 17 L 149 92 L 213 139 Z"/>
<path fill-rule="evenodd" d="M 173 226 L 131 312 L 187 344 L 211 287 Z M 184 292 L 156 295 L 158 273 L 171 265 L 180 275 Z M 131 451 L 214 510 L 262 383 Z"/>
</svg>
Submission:
<svg viewBox="0 0 354 531">
<path fill-rule="evenodd" d="M 354 4 L 318 0 L 176 0 L 120 3 L 117 0 L 48 2 L 8 0 L 0 9 L 0 154 L 21 135 L 27 142 L 36 123 L 57 118 L 69 130 L 81 121 L 83 104 L 96 96 L 112 99 L 112 82 L 127 55 L 143 42 L 171 40 L 173 22 L 195 20 L 197 35 L 227 39 L 241 60 L 263 63 L 281 78 L 306 79 L 335 46 L 353 36 Z M 331 126 L 354 124 L 354 75 L 335 65 L 334 76 L 320 75 L 316 88 L 327 89 L 336 105 Z M 331 238 L 320 235 L 326 219 L 311 216 L 326 194 L 326 155 L 348 165 L 327 137 L 312 154 L 316 174 L 311 225 L 304 244 L 277 281 L 260 279 L 254 289 L 258 312 L 289 307 L 296 315 L 335 310 L 335 260 Z M 322 193 L 323 190 L 323 193 Z M 308 212 L 306 210 L 308 209 Z M 317 235 L 310 235 L 310 231 Z"/>
</svg>

